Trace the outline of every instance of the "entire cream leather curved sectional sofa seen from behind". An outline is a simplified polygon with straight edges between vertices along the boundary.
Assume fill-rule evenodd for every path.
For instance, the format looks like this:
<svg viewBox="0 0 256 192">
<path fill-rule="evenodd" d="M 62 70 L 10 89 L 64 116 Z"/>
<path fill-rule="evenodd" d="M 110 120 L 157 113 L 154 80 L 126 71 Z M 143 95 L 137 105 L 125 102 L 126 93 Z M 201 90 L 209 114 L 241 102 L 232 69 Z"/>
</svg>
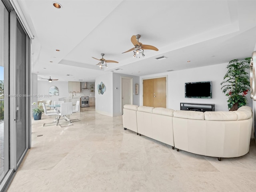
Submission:
<svg viewBox="0 0 256 192">
<path fill-rule="evenodd" d="M 237 111 L 185 111 L 124 105 L 126 128 L 166 143 L 174 149 L 220 158 L 248 153 L 252 132 L 252 109 Z"/>
</svg>

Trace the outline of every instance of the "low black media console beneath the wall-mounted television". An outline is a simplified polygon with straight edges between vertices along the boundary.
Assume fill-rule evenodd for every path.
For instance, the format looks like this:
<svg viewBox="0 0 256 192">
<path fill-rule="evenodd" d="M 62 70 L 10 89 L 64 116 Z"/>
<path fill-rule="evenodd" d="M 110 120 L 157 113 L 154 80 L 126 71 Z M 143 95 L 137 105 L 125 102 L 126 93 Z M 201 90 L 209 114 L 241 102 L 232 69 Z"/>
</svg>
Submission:
<svg viewBox="0 0 256 192">
<path fill-rule="evenodd" d="M 208 103 L 180 103 L 180 110 L 186 111 L 214 111 L 214 104 Z"/>
</svg>

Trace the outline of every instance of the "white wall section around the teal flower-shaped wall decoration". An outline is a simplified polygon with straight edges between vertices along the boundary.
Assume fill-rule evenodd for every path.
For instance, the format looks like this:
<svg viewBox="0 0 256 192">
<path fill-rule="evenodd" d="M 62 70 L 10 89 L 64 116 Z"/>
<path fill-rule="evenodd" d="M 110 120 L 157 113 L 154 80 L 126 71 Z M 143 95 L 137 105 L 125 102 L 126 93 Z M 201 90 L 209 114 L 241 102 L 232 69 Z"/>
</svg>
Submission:
<svg viewBox="0 0 256 192">
<path fill-rule="evenodd" d="M 103 82 L 106 86 L 104 94 L 98 94 L 97 85 Z M 113 74 L 108 73 L 99 76 L 95 79 L 95 111 L 107 115 L 113 116 Z"/>
</svg>

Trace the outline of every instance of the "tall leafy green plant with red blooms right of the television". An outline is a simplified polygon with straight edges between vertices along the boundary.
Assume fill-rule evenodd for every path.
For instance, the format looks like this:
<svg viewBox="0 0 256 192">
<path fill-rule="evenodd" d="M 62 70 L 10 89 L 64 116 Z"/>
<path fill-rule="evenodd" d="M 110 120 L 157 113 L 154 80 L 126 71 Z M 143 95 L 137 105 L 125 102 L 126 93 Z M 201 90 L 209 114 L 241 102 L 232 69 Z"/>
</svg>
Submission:
<svg viewBox="0 0 256 192">
<path fill-rule="evenodd" d="M 228 109 L 237 110 L 246 105 L 246 94 L 250 89 L 250 81 L 246 69 L 250 67 L 250 59 L 245 58 L 241 61 L 234 59 L 229 62 L 223 82 L 220 83 L 222 92 L 228 97 Z"/>
</svg>

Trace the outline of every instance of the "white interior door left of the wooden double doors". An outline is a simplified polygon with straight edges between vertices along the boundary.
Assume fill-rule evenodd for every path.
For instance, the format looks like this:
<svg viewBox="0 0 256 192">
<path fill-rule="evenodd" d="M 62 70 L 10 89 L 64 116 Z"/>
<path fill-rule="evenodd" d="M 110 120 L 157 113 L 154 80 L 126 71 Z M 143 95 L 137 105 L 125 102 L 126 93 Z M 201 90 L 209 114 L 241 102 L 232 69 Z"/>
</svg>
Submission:
<svg viewBox="0 0 256 192">
<path fill-rule="evenodd" d="M 125 104 L 132 104 L 132 78 L 122 77 L 122 114 Z"/>
</svg>

